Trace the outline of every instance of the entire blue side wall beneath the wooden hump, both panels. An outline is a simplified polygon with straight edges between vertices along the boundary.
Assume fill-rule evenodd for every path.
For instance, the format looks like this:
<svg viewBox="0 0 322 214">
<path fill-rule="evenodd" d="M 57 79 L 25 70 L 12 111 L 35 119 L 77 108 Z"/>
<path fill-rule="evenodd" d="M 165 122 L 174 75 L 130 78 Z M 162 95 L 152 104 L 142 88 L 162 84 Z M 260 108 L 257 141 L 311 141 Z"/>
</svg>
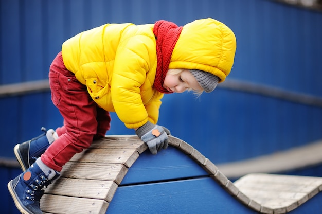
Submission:
<svg viewBox="0 0 322 214">
<path fill-rule="evenodd" d="M 169 147 L 142 153 L 106 213 L 256 213 L 229 195 L 191 157 Z"/>
</svg>

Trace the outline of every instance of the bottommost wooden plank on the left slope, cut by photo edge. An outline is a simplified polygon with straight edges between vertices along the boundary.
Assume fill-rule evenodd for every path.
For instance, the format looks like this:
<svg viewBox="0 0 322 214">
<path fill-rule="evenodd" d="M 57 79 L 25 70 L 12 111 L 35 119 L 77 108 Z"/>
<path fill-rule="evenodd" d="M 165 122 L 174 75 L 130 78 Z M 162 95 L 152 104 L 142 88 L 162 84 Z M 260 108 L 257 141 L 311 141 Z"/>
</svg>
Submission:
<svg viewBox="0 0 322 214">
<path fill-rule="evenodd" d="M 105 213 L 109 203 L 105 200 L 44 194 L 40 208 L 47 213 Z"/>
</svg>

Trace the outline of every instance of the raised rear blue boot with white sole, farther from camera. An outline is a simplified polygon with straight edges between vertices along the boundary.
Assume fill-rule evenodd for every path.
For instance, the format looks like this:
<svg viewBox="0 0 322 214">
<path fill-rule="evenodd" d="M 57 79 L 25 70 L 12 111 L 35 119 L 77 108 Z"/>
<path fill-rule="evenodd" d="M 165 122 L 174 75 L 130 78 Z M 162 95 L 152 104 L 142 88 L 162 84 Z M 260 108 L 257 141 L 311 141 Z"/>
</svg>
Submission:
<svg viewBox="0 0 322 214">
<path fill-rule="evenodd" d="M 42 127 L 41 130 L 44 132 L 42 135 L 25 141 L 22 144 L 17 144 L 13 148 L 14 155 L 17 158 L 22 171 L 26 171 L 55 140 L 55 138 L 53 138 L 53 133 L 55 133 L 53 129 L 47 131 Z"/>
</svg>

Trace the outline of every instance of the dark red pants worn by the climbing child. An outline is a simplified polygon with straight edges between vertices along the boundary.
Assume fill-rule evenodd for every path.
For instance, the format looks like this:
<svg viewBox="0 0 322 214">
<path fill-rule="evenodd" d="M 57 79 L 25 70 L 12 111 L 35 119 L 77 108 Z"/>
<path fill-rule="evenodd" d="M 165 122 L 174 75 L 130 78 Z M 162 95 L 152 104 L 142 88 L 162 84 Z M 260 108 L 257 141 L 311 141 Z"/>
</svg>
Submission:
<svg viewBox="0 0 322 214">
<path fill-rule="evenodd" d="M 41 156 L 48 167 L 61 171 L 76 153 L 91 146 L 93 139 L 110 130 L 108 111 L 97 106 L 75 75 L 66 69 L 61 52 L 49 69 L 51 100 L 64 118 L 64 126 L 56 129 L 59 138 Z"/>
</svg>

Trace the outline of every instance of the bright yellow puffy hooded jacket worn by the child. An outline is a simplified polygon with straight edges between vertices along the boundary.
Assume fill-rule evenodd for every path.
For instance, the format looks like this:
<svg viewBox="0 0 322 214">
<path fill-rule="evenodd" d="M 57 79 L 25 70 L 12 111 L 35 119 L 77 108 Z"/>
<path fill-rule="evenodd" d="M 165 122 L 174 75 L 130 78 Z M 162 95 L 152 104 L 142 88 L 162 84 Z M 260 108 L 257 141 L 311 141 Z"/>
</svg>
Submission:
<svg viewBox="0 0 322 214">
<path fill-rule="evenodd" d="M 62 45 L 66 68 L 127 128 L 158 120 L 163 94 L 152 87 L 157 65 L 153 26 L 105 24 Z M 196 20 L 183 27 L 169 68 L 200 69 L 224 81 L 235 49 L 235 35 L 227 26 L 213 19 Z"/>
</svg>

